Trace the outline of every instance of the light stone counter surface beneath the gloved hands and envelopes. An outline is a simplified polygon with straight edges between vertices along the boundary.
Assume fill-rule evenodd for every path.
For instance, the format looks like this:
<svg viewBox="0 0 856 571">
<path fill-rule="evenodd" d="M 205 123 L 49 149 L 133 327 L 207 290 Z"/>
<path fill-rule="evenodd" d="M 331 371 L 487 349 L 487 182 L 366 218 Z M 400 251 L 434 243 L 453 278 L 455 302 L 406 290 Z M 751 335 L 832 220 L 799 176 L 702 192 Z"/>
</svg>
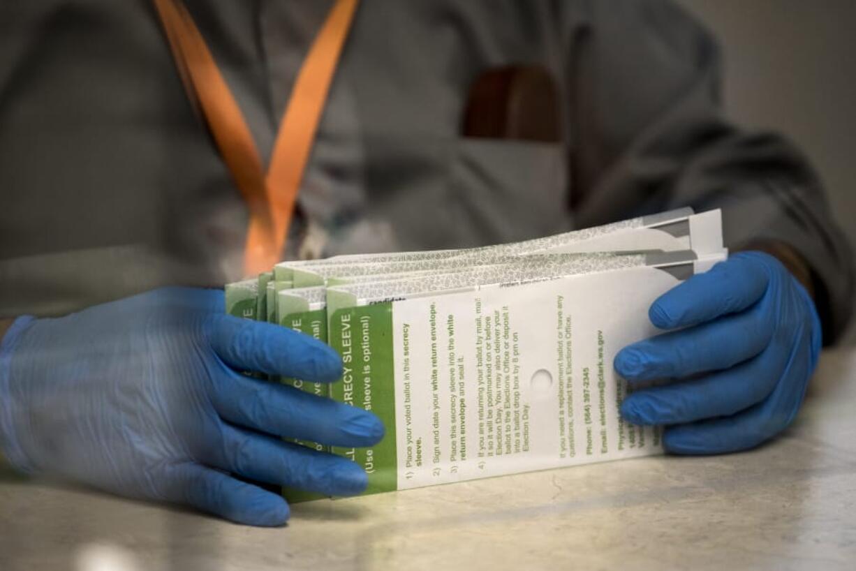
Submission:
<svg viewBox="0 0 856 571">
<path fill-rule="evenodd" d="M 856 569 L 856 353 L 762 449 L 294 507 L 281 529 L 0 477 L 0 569 Z"/>
</svg>

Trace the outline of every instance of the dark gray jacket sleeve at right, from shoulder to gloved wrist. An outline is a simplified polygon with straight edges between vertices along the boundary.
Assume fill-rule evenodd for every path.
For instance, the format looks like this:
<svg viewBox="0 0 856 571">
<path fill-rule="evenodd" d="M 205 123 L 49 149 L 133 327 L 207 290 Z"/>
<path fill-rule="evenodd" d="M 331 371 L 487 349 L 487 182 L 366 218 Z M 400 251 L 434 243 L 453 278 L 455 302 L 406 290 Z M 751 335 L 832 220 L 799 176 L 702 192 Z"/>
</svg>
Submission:
<svg viewBox="0 0 856 571">
<path fill-rule="evenodd" d="M 853 256 L 817 174 L 777 134 L 729 123 L 715 41 L 667 0 L 583 0 L 563 39 L 580 226 L 722 208 L 728 247 L 781 242 L 811 266 L 823 338 L 852 312 Z"/>
</svg>

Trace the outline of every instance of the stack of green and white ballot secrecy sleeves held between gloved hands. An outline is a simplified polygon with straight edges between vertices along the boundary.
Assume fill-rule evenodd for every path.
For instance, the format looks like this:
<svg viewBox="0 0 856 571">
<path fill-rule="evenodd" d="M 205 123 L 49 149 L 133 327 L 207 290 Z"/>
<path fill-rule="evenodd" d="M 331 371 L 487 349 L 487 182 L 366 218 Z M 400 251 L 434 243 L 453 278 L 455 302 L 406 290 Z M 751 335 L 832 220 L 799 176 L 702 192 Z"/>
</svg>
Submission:
<svg viewBox="0 0 856 571">
<path fill-rule="evenodd" d="M 376 413 L 366 493 L 662 450 L 627 424 L 612 360 L 657 334 L 657 296 L 725 259 L 719 211 L 465 250 L 283 262 L 226 287 L 227 312 L 329 342 L 335 384 L 271 379 Z M 286 491 L 292 500 L 311 496 Z"/>
</svg>

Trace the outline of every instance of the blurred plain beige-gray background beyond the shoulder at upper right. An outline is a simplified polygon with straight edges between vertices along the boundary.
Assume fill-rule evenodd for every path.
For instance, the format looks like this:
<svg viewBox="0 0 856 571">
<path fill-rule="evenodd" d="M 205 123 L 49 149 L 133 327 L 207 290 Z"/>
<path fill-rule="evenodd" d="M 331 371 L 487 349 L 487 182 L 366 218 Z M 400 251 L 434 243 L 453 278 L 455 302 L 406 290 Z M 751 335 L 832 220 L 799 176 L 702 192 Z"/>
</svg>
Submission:
<svg viewBox="0 0 856 571">
<path fill-rule="evenodd" d="M 856 244 L 856 2 L 679 2 L 720 39 L 730 115 L 802 147 Z M 856 345 L 856 327 L 846 342 Z"/>
</svg>

